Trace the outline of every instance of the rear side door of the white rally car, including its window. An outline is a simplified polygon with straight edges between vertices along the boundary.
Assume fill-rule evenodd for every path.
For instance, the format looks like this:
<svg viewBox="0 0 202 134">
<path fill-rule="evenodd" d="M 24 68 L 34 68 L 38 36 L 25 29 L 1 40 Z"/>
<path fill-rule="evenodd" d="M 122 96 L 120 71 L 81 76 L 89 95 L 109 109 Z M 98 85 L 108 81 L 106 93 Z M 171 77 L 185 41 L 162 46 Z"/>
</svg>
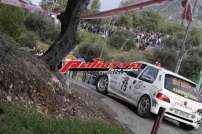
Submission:
<svg viewBox="0 0 202 134">
<path fill-rule="evenodd" d="M 130 97 L 137 103 L 139 97 L 143 94 L 149 94 L 157 88 L 153 83 L 157 78 L 159 70 L 155 67 L 148 66 L 142 74 L 138 76 L 135 84 L 131 86 Z"/>
</svg>

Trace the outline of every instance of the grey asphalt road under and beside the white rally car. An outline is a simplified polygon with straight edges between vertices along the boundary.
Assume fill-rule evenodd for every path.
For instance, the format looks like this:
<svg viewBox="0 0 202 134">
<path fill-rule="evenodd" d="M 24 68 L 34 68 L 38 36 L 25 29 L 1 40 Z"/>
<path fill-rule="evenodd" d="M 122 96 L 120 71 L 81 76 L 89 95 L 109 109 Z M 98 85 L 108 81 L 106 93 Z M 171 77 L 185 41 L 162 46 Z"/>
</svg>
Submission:
<svg viewBox="0 0 202 134">
<path fill-rule="evenodd" d="M 71 83 L 82 87 L 81 90 L 91 91 L 100 101 L 108 105 L 115 113 L 114 118 L 126 128 L 128 134 L 150 134 L 155 117 L 151 117 L 150 119 L 141 118 L 136 114 L 136 108 L 134 106 L 114 97 L 102 95 L 92 85 L 71 81 L 70 86 Z M 202 134 L 202 127 L 198 130 L 187 131 L 180 128 L 177 122 L 164 119 L 160 125 L 159 134 Z"/>
</svg>

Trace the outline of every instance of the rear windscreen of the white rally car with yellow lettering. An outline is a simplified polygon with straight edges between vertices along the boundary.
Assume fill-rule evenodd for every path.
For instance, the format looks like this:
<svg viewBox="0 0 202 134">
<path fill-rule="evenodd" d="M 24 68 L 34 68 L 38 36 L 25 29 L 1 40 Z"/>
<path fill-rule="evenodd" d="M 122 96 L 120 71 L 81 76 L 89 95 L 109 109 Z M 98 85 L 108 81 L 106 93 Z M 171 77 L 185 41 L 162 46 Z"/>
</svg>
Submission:
<svg viewBox="0 0 202 134">
<path fill-rule="evenodd" d="M 166 74 L 164 87 L 185 98 L 201 102 L 200 94 L 196 90 L 196 85 L 191 82 Z"/>
</svg>

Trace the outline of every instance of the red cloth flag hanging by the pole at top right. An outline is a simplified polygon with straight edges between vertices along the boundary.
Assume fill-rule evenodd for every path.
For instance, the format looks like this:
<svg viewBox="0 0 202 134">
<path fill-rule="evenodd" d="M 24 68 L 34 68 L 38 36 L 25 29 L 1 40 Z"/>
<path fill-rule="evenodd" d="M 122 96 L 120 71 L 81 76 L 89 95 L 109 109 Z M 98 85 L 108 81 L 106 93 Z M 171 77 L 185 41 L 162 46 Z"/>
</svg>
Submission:
<svg viewBox="0 0 202 134">
<path fill-rule="evenodd" d="M 192 21 L 192 4 L 191 0 L 183 0 L 182 1 L 183 13 L 182 19 L 186 19 L 187 21 Z"/>
</svg>

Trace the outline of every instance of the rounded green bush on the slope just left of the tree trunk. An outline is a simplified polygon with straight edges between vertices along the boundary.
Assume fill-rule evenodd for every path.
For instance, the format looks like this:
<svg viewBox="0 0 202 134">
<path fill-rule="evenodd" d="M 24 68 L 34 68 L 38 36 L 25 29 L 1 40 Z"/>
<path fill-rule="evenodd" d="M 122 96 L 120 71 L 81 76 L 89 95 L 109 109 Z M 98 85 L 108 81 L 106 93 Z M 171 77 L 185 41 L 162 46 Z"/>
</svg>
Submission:
<svg viewBox="0 0 202 134">
<path fill-rule="evenodd" d="M 28 30 L 36 32 L 39 37 L 48 43 L 52 43 L 59 34 L 59 27 L 49 16 L 40 13 L 31 13 L 25 19 L 25 26 Z"/>
</svg>

